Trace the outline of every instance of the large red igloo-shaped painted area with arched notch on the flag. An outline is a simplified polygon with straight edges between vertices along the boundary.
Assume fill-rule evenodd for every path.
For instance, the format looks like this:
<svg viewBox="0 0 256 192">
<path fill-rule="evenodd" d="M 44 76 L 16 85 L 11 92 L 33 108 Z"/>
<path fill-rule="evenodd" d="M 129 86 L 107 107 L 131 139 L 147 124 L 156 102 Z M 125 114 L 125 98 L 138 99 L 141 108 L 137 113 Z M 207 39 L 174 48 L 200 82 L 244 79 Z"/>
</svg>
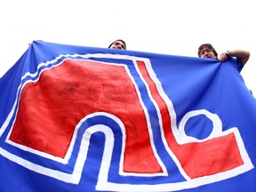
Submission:
<svg viewBox="0 0 256 192">
<path fill-rule="evenodd" d="M 124 172 L 162 172 L 135 87 L 122 66 L 66 60 L 45 70 L 23 88 L 10 140 L 63 158 L 76 124 L 94 112 L 123 121 Z"/>
</svg>

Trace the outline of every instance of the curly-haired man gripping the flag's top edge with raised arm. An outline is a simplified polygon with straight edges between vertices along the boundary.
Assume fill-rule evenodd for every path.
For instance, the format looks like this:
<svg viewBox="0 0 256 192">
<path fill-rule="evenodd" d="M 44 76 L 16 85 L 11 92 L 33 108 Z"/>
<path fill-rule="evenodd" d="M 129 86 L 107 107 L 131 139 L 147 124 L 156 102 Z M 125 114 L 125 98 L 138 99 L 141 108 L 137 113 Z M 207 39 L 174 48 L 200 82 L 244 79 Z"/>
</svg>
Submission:
<svg viewBox="0 0 256 192">
<path fill-rule="evenodd" d="M 250 52 L 244 51 L 244 50 L 234 50 L 234 51 L 227 51 L 222 52 L 218 58 L 218 53 L 212 46 L 212 44 L 201 44 L 198 47 L 198 56 L 200 58 L 212 58 L 212 59 L 218 59 L 221 62 L 228 60 L 230 57 L 236 58 L 236 67 L 239 73 L 244 68 L 244 64 L 249 60 L 250 58 Z"/>
</svg>

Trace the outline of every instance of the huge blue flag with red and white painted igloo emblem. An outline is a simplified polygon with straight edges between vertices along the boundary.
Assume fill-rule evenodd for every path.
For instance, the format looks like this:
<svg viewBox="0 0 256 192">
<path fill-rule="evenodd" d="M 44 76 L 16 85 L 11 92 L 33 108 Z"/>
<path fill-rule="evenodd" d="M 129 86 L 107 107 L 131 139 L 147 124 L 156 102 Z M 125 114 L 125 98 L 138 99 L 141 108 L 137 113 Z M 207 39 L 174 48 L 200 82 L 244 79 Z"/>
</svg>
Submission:
<svg viewBox="0 0 256 192">
<path fill-rule="evenodd" d="M 233 59 L 34 41 L 0 79 L 0 191 L 256 191 Z"/>
</svg>

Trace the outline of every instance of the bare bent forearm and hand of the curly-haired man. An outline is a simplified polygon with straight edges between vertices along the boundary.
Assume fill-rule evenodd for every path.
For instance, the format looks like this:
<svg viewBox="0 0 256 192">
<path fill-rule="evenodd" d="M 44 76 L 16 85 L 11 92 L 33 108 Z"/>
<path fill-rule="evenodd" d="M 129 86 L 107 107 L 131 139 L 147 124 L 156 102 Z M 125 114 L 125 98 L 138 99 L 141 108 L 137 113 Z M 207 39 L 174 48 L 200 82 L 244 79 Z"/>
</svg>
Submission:
<svg viewBox="0 0 256 192">
<path fill-rule="evenodd" d="M 240 58 L 242 60 L 243 64 L 245 64 L 247 62 L 247 60 L 249 60 L 249 58 L 250 58 L 250 52 L 248 52 L 248 51 L 233 50 L 233 51 L 227 51 L 227 52 L 221 53 L 219 60 L 220 61 L 228 60 L 228 55 L 230 55 L 231 57 Z"/>
</svg>

